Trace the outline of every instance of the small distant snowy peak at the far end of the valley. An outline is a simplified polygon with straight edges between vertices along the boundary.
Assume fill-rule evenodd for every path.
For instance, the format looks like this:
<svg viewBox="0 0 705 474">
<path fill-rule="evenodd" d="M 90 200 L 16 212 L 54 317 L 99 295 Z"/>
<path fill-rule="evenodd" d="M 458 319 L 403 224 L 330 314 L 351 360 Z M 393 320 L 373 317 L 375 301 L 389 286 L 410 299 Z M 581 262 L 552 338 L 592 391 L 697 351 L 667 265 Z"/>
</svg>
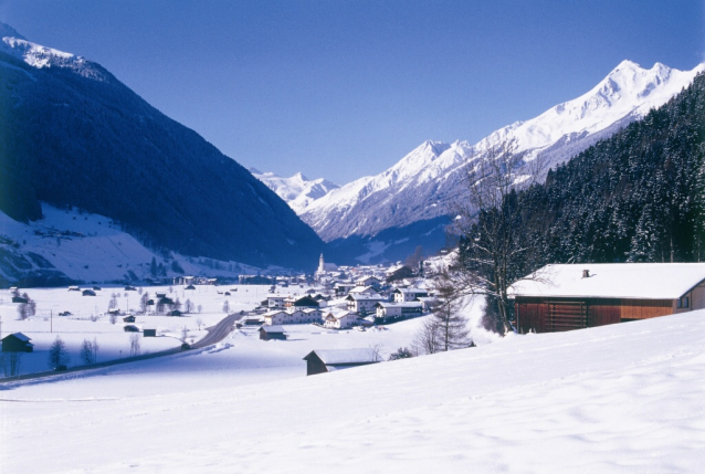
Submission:
<svg viewBox="0 0 705 474">
<path fill-rule="evenodd" d="M 297 214 L 304 212 L 315 200 L 339 188 L 338 185 L 324 178 L 309 180 L 301 172 L 291 178 L 282 178 L 273 172 L 262 172 L 255 168 L 250 168 L 250 172 L 276 192 Z"/>
</svg>

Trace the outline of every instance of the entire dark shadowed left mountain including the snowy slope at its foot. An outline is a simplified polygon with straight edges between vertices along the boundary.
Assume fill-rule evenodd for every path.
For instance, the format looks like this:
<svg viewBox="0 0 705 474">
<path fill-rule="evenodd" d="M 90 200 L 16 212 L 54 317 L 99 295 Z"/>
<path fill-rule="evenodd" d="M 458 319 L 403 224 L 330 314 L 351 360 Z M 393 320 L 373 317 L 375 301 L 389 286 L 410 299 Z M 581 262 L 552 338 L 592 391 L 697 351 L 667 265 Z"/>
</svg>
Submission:
<svg viewBox="0 0 705 474">
<path fill-rule="evenodd" d="M 140 278 L 155 256 L 162 276 L 315 267 L 316 233 L 197 133 L 95 62 L 0 39 L 3 283 Z"/>
</svg>

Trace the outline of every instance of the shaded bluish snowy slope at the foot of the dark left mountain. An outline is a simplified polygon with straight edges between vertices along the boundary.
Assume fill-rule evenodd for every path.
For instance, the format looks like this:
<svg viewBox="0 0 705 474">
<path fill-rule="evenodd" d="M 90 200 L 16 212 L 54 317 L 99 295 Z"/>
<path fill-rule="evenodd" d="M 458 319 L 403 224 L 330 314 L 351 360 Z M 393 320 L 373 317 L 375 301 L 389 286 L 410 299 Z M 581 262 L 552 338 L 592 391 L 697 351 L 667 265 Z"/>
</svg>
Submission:
<svg viewBox="0 0 705 474">
<path fill-rule="evenodd" d="M 203 259 L 176 252 L 165 259 L 104 215 L 61 210 L 46 203 L 42 204 L 42 214 L 43 219 L 24 224 L 0 212 L 0 255 L 3 256 L 0 282 L 24 280 L 25 286 L 34 286 L 69 281 L 143 280 L 151 276 L 152 259 L 167 268 L 167 276 L 180 274 L 171 270 L 173 262 L 186 274 L 194 276 L 236 276 L 262 271 L 235 262 L 219 262 L 223 270 L 214 270 L 213 265 L 206 265 Z"/>
</svg>

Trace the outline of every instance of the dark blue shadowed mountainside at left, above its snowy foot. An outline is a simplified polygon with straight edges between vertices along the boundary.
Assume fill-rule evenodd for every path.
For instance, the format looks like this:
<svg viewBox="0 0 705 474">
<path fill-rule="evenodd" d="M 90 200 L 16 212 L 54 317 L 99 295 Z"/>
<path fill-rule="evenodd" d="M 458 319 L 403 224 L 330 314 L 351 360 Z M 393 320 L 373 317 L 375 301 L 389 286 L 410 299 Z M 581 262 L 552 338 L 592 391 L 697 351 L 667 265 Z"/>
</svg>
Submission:
<svg viewBox="0 0 705 474">
<path fill-rule="evenodd" d="M 41 219 L 42 202 L 78 208 L 182 255 L 314 270 L 324 246 L 246 169 L 99 64 L 2 23 L 0 187 L 15 221 Z"/>
</svg>

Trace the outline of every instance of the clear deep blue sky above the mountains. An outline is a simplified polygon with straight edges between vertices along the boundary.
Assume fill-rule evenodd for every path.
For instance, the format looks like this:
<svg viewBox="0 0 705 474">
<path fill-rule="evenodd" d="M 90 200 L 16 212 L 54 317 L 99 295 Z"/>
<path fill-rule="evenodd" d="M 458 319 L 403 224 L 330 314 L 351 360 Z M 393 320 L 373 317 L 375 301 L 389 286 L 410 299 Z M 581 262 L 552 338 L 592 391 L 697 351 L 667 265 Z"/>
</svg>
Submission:
<svg viewBox="0 0 705 474">
<path fill-rule="evenodd" d="M 692 69 L 704 1 L 0 0 L 245 167 L 345 183 L 476 141 L 622 60 Z"/>
</svg>

